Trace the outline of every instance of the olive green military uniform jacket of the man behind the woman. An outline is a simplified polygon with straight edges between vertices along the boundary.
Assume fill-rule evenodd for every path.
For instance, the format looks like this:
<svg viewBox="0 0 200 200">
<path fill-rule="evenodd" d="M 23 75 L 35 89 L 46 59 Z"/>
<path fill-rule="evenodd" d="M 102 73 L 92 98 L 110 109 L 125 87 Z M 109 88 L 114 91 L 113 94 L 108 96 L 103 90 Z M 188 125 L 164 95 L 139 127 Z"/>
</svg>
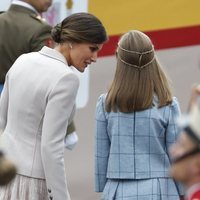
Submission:
<svg viewBox="0 0 200 200">
<path fill-rule="evenodd" d="M 15 60 L 23 53 L 40 50 L 51 40 L 51 26 L 34 10 L 11 4 L 0 14 L 0 84 Z M 31 72 L 30 72 L 31 73 Z M 74 132 L 72 122 L 67 134 Z"/>
</svg>

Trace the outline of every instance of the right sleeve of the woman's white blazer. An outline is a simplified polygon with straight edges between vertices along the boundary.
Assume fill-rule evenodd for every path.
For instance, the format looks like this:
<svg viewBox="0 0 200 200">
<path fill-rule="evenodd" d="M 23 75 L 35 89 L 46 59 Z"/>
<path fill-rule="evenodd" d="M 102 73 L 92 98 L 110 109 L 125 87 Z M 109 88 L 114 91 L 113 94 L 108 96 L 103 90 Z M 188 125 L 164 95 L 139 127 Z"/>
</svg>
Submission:
<svg viewBox="0 0 200 200">
<path fill-rule="evenodd" d="M 48 96 L 42 128 L 41 155 L 50 199 L 70 199 L 65 175 L 64 138 L 78 86 L 78 77 L 69 73 L 57 82 Z"/>
</svg>

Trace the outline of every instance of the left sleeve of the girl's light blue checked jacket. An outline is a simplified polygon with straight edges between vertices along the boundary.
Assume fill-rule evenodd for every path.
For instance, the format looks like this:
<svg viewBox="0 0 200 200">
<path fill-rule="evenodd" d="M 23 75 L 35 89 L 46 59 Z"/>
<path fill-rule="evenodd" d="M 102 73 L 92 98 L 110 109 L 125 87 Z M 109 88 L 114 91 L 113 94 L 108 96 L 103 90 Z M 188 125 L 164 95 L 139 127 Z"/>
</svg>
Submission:
<svg viewBox="0 0 200 200">
<path fill-rule="evenodd" d="M 105 96 L 101 95 L 96 105 L 95 133 L 95 191 L 102 192 L 106 184 L 110 139 L 104 108 Z"/>
</svg>

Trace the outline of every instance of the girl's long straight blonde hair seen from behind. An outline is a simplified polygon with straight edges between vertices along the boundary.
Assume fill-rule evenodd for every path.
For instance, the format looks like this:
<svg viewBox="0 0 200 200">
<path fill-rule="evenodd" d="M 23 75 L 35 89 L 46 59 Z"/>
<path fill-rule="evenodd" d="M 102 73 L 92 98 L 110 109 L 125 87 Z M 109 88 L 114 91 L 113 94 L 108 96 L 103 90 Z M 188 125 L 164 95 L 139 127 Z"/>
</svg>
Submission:
<svg viewBox="0 0 200 200">
<path fill-rule="evenodd" d="M 172 101 L 169 80 L 155 56 L 150 38 L 136 30 L 119 40 L 117 68 L 106 97 L 106 111 L 133 112 Z"/>
</svg>

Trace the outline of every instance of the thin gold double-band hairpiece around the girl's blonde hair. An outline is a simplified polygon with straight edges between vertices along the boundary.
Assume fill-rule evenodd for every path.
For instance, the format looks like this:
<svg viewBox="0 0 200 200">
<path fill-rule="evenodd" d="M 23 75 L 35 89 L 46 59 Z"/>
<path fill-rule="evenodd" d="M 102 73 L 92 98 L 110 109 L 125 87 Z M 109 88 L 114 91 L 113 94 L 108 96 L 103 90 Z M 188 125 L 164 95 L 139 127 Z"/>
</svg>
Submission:
<svg viewBox="0 0 200 200">
<path fill-rule="evenodd" d="M 127 53 L 132 53 L 132 54 L 138 54 L 138 55 L 139 55 L 139 66 L 126 62 L 125 60 L 123 60 L 123 59 L 119 56 L 119 54 L 117 54 L 117 57 L 119 58 L 119 60 L 120 60 L 122 63 L 124 63 L 124 64 L 126 64 L 126 65 L 129 65 L 129 66 L 131 66 L 131 67 L 135 67 L 135 68 L 137 68 L 137 69 L 140 70 L 140 71 L 141 71 L 142 69 L 144 69 L 145 67 L 147 67 L 150 63 L 152 63 L 152 62 L 154 61 L 154 59 L 155 59 L 155 55 L 153 55 L 153 58 L 152 58 L 148 63 L 146 63 L 146 64 L 144 64 L 144 65 L 141 65 L 142 56 L 154 52 L 154 47 L 153 47 L 153 46 L 152 46 L 152 49 L 151 49 L 151 50 L 149 50 L 149 51 L 144 51 L 144 52 L 131 51 L 131 50 L 128 50 L 128 49 L 124 49 L 124 48 L 121 47 L 119 44 L 118 44 L 118 47 L 119 47 L 120 50 L 125 51 L 125 52 L 127 52 Z"/>
</svg>

